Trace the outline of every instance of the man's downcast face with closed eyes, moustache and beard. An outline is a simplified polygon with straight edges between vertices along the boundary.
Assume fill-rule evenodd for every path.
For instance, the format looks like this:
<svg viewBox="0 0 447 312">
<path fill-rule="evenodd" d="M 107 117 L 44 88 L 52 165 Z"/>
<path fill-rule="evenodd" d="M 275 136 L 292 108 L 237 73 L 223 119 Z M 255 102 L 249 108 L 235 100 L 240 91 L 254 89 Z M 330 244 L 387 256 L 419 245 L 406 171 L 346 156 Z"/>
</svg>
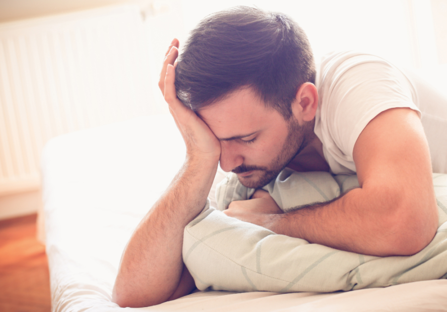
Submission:
<svg viewBox="0 0 447 312">
<path fill-rule="evenodd" d="M 277 110 L 265 107 L 249 88 L 198 114 L 221 142 L 222 169 L 236 173 L 250 188 L 275 179 L 298 154 L 309 131 L 294 116 L 286 121 Z"/>
</svg>

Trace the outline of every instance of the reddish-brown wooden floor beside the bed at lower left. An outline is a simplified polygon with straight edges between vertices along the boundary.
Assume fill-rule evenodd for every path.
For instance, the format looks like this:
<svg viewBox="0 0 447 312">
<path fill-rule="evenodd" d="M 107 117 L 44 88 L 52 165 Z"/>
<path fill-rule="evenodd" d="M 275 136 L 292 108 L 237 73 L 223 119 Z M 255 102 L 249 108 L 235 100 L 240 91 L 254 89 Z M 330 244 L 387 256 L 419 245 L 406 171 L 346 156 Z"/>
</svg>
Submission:
<svg viewBox="0 0 447 312">
<path fill-rule="evenodd" d="M 36 215 L 0 221 L 0 311 L 50 312 L 45 246 L 36 239 Z"/>
</svg>

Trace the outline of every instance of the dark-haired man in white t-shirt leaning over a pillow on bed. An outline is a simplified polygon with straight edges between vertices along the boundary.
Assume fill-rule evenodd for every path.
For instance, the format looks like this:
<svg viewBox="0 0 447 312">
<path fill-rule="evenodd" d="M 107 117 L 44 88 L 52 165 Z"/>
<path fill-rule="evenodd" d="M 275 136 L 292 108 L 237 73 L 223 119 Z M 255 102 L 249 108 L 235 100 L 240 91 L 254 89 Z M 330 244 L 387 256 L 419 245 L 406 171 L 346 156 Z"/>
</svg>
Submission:
<svg viewBox="0 0 447 312">
<path fill-rule="evenodd" d="M 299 26 L 249 7 L 204 19 L 175 64 L 178 45 L 169 47 L 159 87 L 187 155 L 124 251 L 116 303 L 150 306 L 194 289 L 182 261 L 183 229 L 204 208 L 219 162 L 251 188 L 285 166 L 356 172 L 361 186 L 289 213 L 258 190 L 231 203 L 229 216 L 367 255 L 412 255 L 432 240 L 438 214 L 430 154 L 400 71 L 371 55 L 339 53 L 316 79 Z"/>
</svg>

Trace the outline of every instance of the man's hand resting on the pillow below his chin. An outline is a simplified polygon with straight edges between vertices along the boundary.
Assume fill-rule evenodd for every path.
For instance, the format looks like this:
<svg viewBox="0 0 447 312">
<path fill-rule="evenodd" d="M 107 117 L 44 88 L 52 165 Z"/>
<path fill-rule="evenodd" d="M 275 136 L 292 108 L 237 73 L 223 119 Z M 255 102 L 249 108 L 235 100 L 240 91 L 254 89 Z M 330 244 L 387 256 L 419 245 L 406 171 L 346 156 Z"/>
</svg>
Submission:
<svg viewBox="0 0 447 312">
<path fill-rule="evenodd" d="M 231 202 L 224 213 L 227 216 L 260 225 L 276 233 L 276 221 L 283 210 L 279 208 L 268 192 L 256 190 L 249 200 Z"/>
</svg>

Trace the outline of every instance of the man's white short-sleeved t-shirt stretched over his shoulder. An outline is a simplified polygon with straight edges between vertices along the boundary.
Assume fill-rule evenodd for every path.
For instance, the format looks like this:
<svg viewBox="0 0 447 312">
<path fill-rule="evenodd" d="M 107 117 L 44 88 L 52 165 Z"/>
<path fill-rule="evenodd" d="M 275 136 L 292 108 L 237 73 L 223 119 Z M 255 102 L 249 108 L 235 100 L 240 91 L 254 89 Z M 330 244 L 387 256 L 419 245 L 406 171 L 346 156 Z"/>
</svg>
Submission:
<svg viewBox="0 0 447 312">
<path fill-rule="evenodd" d="M 315 134 L 334 174 L 355 173 L 354 145 L 380 112 L 410 107 L 421 116 L 410 80 L 386 60 L 359 52 L 325 55 L 317 67 Z"/>
</svg>

